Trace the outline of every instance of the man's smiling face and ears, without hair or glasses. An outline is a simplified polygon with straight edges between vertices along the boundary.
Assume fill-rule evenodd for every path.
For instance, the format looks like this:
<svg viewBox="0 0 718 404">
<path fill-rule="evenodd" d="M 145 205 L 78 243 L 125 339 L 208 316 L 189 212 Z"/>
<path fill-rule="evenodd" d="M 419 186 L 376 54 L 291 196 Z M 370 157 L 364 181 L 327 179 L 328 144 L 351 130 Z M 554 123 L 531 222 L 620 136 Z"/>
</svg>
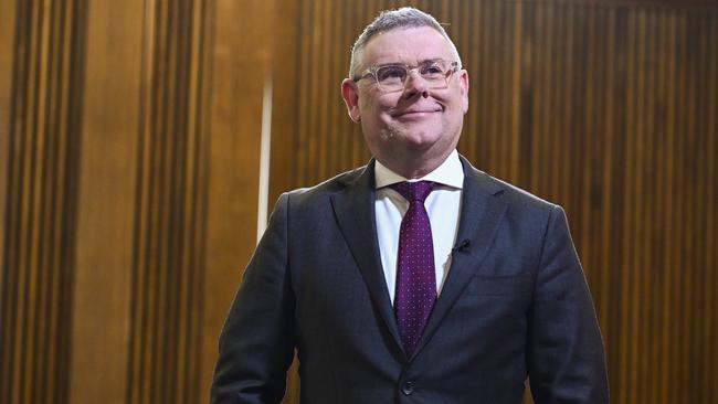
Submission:
<svg viewBox="0 0 718 404">
<path fill-rule="evenodd" d="M 429 26 L 397 29 L 373 36 L 360 55 L 360 68 L 425 61 L 454 62 L 448 42 Z M 434 85 L 435 86 L 435 85 Z M 403 89 L 384 92 L 371 77 L 345 79 L 342 96 L 349 115 L 361 123 L 372 155 L 388 167 L 392 160 L 437 160 L 456 147 L 468 109 L 468 75 L 454 72 L 448 85 L 432 88 L 416 71 L 409 73 Z"/>
</svg>

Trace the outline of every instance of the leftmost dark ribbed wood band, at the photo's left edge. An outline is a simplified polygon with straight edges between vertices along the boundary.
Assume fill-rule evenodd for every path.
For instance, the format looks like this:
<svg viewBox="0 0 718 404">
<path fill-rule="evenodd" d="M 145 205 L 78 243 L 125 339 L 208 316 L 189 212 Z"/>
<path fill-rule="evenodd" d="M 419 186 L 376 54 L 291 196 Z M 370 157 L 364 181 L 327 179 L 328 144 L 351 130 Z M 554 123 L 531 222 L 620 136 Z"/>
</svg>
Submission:
<svg viewBox="0 0 718 404">
<path fill-rule="evenodd" d="M 3 54 L 12 60 L 3 63 L 12 88 L 3 87 L 9 98 L 0 132 L 2 402 L 67 402 L 70 325 L 57 316 L 71 301 L 73 254 L 63 247 L 74 238 L 78 159 L 67 145 L 80 141 L 81 72 L 72 66 L 84 60 L 85 8 L 84 1 L 3 3 L 3 26 L 14 29 L 3 40 L 14 43 Z"/>
</svg>

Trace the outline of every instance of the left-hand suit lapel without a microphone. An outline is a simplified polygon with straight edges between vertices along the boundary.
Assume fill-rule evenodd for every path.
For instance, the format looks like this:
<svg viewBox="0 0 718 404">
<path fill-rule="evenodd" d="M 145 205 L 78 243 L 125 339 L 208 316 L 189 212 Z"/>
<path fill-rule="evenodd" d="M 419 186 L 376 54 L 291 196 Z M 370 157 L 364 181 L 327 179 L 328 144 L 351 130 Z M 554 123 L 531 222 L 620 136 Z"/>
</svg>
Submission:
<svg viewBox="0 0 718 404">
<path fill-rule="evenodd" d="M 369 294 L 394 341 L 401 347 L 397 320 L 381 267 L 374 219 L 374 162 L 347 187 L 331 195 L 331 206 Z"/>
</svg>

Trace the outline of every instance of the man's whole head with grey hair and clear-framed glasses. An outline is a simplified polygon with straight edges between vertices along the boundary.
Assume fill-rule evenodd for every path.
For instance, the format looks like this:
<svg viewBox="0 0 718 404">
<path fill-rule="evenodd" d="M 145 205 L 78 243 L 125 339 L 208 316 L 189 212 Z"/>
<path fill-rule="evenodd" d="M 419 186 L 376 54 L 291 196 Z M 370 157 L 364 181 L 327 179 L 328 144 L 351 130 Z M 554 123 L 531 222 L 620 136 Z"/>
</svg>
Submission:
<svg viewBox="0 0 718 404">
<path fill-rule="evenodd" d="M 367 26 L 341 93 L 379 161 L 404 177 L 421 177 L 444 161 L 468 109 L 468 75 L 461 66 L 444 29 L 422 11 L 384 11 Z"/>
</svg>

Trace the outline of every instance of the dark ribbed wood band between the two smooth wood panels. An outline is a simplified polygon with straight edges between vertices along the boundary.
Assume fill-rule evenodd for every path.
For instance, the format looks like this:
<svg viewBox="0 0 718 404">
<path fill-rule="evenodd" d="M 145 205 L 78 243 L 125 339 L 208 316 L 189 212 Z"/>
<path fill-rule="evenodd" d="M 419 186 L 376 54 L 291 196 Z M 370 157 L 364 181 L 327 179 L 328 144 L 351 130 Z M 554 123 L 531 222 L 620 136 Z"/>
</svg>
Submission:
<svg viewBox="0 0 718 404">
<path fill-rule="evenodd" d="M 128 403 L 201 400 L 199 362 L 204 222 L 200 1 L 147 9 L 131 280 Z M 200 160 L 198 160 L 198 157 Z"/>
</svg>

